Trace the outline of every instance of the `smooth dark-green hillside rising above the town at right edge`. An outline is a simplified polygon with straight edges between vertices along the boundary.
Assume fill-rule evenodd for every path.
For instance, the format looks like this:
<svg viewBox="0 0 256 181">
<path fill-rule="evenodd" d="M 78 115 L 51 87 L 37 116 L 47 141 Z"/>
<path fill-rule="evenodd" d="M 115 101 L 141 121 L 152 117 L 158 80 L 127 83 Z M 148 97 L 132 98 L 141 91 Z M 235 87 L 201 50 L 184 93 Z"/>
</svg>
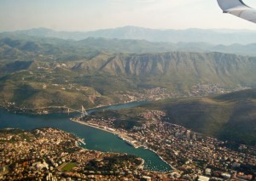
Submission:
<svg viewBox="0 0 256 181">
<path fill-rule="evenodd" d="M 168 122 L 243 144 L 256 144 L 256 89 L 212 98 L 169 99 L 147 105 L 165 110 Z"/>
</svg>

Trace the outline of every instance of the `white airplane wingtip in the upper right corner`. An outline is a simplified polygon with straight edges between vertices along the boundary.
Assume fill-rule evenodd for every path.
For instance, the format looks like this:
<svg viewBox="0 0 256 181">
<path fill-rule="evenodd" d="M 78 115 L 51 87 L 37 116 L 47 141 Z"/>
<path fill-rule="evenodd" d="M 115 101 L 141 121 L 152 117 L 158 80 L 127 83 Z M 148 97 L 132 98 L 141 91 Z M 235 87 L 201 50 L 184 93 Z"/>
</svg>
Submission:
<svg viewBox="0 0 256 181">
<path fill-rule="evenodd" d="M 218 5 L 224 13 L 256 23 L 256 9 L 247 6 L 242 0 L 218 0 Z"/>
</svg>

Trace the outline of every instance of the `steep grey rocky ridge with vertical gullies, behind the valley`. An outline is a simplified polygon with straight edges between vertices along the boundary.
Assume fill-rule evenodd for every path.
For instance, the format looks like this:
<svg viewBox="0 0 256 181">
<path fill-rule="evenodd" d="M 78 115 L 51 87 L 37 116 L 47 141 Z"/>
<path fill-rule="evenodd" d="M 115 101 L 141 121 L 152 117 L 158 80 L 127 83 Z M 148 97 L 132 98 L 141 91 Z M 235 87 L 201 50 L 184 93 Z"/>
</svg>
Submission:
<svg viewBox="0 0 256 181">
<path fill-rule="evenodd" d="M 255 86 L 256 59 L 234 54 L 102 54 L 73 66 L 85 74 L 136 77 L 138 82 L 181 90 L 196 82 Z"/>
</svg>

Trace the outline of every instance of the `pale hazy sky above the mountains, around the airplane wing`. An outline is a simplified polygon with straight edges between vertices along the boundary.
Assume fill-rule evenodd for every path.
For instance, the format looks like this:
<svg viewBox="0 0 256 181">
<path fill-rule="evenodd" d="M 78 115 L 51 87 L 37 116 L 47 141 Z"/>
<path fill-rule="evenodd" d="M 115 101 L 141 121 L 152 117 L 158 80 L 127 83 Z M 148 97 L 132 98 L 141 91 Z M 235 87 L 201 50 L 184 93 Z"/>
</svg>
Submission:
<svg viewBox="0 0 256 181">
<path fill-rule="evenodd" d="M 244 2 L 256 8 L 256 0 Z M 0 0 L 0 31 L 90 31 L 125 25 L 256 30 L 256 24 L 222 14 L 217 0 Z"/>
</svg>

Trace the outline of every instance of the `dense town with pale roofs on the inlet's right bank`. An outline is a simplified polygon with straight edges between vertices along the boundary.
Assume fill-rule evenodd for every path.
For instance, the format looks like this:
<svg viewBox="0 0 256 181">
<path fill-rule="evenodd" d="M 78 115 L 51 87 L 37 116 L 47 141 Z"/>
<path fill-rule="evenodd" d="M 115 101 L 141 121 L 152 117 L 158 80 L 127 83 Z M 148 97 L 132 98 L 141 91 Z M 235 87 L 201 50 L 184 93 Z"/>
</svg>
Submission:
<svg viewBox="0 0 256 181">
<path fill-rule="evenodd" d="M 253 180 L 256 176 L 256 147 L 231 143 L 195 133 L 163 121 L 165 112 L 148 110 L 139 115 L 145 122 L 130 130 L 114 126 L 115 117 L 73 118 L 72 121 L 118 134 L 135 148 L 153 150 L 173 168 L 176 178 L 187 180 Z"/>
</svg>

